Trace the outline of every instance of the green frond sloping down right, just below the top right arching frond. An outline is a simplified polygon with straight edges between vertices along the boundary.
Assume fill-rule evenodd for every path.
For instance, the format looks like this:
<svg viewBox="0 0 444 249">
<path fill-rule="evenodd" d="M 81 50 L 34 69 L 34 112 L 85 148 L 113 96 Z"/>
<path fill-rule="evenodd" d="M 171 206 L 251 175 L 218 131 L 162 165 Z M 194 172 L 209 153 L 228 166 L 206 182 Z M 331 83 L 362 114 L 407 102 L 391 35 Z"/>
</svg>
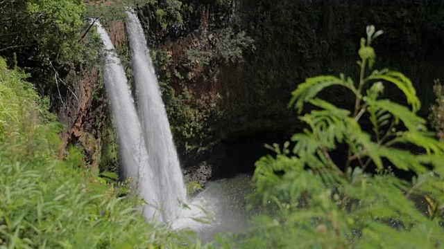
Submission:
<svg viewBox="0 0 444 249">
<path fill-rule="evenodd" d="M 374 106 L 378 109 L 383 109 L 391 113 L 391 115 L 393 115 L 396 119 L 396 124 L 398 124 L 398 120 L 402 120 L 405 127 L 407 127 L 409 131 L 426 130 L 426 121 L 423 118 L 416 116 L 415 113 L 401 104 L 391 102 L 390 100 L 370 100 L 368 98 L 364 98 L 364 101 L 367 102 L 367 104 L 370 106 Z"/>
</svg>

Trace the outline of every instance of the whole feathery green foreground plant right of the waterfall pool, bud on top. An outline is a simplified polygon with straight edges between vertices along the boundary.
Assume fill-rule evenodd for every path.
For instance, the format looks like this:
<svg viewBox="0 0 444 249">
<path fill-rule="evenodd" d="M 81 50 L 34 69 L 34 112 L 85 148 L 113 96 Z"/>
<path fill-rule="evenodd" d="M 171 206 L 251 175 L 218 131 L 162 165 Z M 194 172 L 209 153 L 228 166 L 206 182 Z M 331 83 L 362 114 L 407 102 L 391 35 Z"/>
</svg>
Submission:
<svg viewBox="0 0 444 249">
<path fill-rule="evenodd" d="M 366 31 L 357 81 L 322 75 L 293 91 L 289 106 L 298 113 L 311 104 L 300 116 L 307 128 L 293 135 L 293 145 L 268 146 L 278 156 L 257 161 L 253 177 L 256 197 L 278 212 L 257 217 L 253 237 L 241 239 L 239 247 L 436 248 L 444 242 L 444 145 L 416 115 L 420 100 L 411 81 L 397 71 L 373 70 L 371 45 L 382 31 Z M 383 98 L 388 84 L 400 90 L 406 105 Z M 319 98 L 330 86 L 348 89 L 354 107 Z M 339 145 L 346 148 L 345 160 L 333 156 Z M 393 170 L 414 177 L 406 181 Z"/>
</svg>

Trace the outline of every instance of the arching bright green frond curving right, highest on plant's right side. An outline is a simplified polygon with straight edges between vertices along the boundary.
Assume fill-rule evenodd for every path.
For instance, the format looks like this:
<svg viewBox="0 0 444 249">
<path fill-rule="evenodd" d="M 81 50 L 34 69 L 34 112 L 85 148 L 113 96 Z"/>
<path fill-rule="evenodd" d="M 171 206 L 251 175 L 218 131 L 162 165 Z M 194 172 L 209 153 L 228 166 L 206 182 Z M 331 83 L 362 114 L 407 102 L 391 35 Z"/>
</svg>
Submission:
<svg viewBox="0 0 444 249">
<path fill-rule="evenodd" d="M 369 82 L 371 80 L 384 80 L 386 82 L 391 82 L 395 84 L 395 86 L 398 86 L 398 89 L 400 89 L 402 93 L 404 93 L 405 97 L 407 98 L 407 102 L 411 104 L 413 112 L 416 112 L 420 109 L 421 102 L 416 96 L 416 90 L 413 87 L 411 80 L 409 80 L 409 78 L 402 73 L 397 71 L 390 71 L 388 69 L 384 69 L 382 71 L 373 71 L 373 73 L 366 77 L 364 81 Z"/>
</svg>

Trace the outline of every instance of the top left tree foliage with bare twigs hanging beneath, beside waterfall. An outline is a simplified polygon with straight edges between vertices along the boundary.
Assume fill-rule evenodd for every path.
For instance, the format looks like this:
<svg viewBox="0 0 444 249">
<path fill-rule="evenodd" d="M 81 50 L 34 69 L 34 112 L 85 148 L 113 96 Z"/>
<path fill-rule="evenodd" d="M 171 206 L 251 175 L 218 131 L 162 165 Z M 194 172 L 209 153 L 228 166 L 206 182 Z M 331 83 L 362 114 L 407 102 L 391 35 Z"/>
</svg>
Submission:
<svg viewBox="0 0 444 249">
<path fill-rule="evenodd" d="M 98 64 L 101 41 L 83 32 L 89 24 L 82 0 L 3 1 L 0 12 L 0 55 L 8 66 L 30 73 L 53 106 L 76 87 L 75 77 L 67 75 Z"/>
</svg>

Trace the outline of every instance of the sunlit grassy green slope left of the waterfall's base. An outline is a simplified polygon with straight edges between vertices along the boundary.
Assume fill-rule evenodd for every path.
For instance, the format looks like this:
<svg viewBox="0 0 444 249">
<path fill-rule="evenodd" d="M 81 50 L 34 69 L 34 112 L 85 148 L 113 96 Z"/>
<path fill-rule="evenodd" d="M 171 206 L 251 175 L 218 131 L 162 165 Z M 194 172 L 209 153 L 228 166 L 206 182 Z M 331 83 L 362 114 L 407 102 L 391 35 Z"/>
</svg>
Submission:
<svg viewBox="0 0 444 249">
<path fill-rule="evenodd" d="M 0 58 L 0 247 L 192 246 L 187 234 L 146 223 L 117 174 L 99 175 L 76 149 L 58 158 L 60 129 L 40 115 L 47 110 L 25 77 Z"/>
</svg>

